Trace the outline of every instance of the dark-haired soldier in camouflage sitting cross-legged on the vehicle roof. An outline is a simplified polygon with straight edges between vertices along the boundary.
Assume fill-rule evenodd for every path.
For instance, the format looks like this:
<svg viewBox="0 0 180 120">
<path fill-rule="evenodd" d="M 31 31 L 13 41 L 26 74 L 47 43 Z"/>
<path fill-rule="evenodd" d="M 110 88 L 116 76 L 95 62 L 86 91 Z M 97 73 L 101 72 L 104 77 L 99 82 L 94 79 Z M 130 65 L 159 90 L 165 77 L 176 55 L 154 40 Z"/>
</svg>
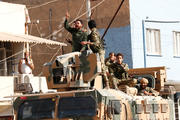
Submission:
<svg viewBox="0 0 180 120">
<path fill-rule="evenodd" d="M 128 64 L 123 63 L 123 54 L 118 53 L 116 55 L 116 63 L 109 66 L 110 86 L 115 89 L 118 89 L 119 85 L 134 86 L 137 81 L 128 77 L 128 70 Z"/>
</svg>

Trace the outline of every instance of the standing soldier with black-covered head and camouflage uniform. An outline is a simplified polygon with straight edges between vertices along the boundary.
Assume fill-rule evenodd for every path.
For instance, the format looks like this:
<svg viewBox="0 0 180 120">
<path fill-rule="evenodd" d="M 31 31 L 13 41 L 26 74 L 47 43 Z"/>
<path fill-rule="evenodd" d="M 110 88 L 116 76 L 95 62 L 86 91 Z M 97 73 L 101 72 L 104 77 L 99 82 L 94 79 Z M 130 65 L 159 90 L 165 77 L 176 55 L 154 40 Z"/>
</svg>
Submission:
<svg viewBox="0 0 180 120">
<path fill-rule="evenodd" d="M 106 75 L 106 67 L 104 63 L 104 55 L 105 55 L 105 50 L 104 50 L 104 44 L 103 41 L 100 38 L 100 34 L 96 28 L 96 22 L 94 20 L 90 20 L 88 22 L 88 26 L 91 30 L 90 35 L 88 36 L 88 39 L 90 41 L 84 41 L 81 42 L 82 45 L 90 45 L 91 50 L 93 53 L 98 53 L 101 61 L 101 68 L 102 68 L 102 73 L 103 73 L 103 78 L 105 80 L 106 88 L 109 88 L 109 81 Z"/>
</svg>

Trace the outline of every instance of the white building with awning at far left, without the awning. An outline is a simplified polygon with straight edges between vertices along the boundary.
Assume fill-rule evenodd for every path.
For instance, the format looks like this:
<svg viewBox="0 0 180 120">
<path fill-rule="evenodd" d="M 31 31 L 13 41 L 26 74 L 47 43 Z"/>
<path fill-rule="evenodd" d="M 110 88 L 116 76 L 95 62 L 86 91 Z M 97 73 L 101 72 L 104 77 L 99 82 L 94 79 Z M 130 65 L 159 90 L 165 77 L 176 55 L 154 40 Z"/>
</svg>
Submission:
<svg viewBox="0 0 180 120">
<path fill-rule="evenodd" d="M 16 70 L 16 65 L 21 55 L 18 54 L 17 56 L 11 57 L 4 61 L 3 59 L 13 55 L 20 50 L 23 50 L 23 44 L 19 44 L 18 42 L 17 44 L 10 43 L 9 40 L 6 41 L 6 38 L 4 38 L 2 34 L 25 34 L 25 12 L 27 17 L 28 12 L 26 11 L 26 7 L 24 5 L 0 2 L 0 6 L 0 75 L 12 75 L 12 73 Z"/>
</svg>

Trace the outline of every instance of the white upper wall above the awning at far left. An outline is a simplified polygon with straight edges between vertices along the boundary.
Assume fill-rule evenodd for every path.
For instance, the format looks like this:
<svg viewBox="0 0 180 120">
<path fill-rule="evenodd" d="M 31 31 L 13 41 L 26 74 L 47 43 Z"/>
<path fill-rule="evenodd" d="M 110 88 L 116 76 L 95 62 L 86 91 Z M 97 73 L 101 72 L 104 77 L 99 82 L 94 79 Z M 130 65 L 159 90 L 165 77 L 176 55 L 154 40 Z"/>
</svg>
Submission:
<svg viewBox="0 0 180 120">
<path fill-rule="evenodd" d="M 0 32 L 25 33 L 25 5 L 0 2 Z"/>
</svg>

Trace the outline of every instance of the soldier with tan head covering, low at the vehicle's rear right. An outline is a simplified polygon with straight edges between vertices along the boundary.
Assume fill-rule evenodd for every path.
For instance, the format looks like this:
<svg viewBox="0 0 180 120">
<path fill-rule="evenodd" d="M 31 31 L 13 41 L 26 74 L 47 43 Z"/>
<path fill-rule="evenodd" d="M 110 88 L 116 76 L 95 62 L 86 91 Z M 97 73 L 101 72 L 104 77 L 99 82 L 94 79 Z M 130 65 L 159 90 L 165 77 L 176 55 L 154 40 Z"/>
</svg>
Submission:
<svg viewBox="0 0 180 120">
<path fill-rule="evenodd" d="M 147 87 L 148 80 L 146 78 L 142 78 L 140 81 L 140 87 L 138 88 L 138 95 L 148 95 L 148 96 L 158 96 L 159 92 L 153 90 L 150 87 Z"/>
</svg>

